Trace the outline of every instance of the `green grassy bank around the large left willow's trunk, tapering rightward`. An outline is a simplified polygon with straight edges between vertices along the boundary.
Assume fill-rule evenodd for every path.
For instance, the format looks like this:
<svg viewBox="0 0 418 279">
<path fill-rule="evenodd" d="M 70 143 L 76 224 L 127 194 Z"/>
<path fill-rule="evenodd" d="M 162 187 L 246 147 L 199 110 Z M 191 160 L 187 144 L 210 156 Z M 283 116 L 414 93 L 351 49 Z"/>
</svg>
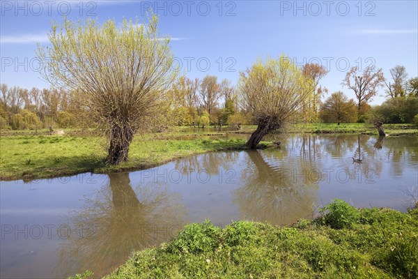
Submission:
<svg viewBox="0 0 418 279">
<path fill-rule="evenodd" d="M 151 135 L 137 136 L 130 146 L 129 160 L 111 166 L 105 164 L 104 144 L 100 137 L 0 137 L 0 180 L 146 169 L 192 154 L 245 149 L 243 140 L 153 140 Z"/>
</svg>

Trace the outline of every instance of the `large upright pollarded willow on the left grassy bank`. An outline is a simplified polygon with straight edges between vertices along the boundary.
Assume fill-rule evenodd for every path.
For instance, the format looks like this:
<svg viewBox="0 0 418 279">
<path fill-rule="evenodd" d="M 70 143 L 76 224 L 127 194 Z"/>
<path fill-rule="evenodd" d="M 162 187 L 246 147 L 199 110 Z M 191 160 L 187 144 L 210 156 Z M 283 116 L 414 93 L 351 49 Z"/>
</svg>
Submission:
<svg viewBox="0 0 418 279">
<path fill-rule="evenodd" d="M 77 94 L 88 118 L 109 138 L 107 162 L 127 160 L 134 133 L 162 113 L 165 91 L 176 79 L 170 38 L 148 24 L 96 20 L 53 24 L 48 47 L 38 45 L 52 86 Z"/>
</svg>

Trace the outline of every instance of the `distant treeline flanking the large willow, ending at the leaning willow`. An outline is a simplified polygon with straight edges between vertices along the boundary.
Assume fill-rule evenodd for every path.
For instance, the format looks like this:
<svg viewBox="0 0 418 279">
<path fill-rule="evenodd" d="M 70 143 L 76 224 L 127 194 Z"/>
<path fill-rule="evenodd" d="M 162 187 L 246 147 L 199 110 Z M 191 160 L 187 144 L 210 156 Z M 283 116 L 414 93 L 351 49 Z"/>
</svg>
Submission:
<svg viewBox="0 0 418 279">
<path fill-rule="evenodd" d="M 88 105 L 63 89 L 24 89 L 0 85 L 0 128 L 72 128 L 85 124 Z M 180 77 L 164 94 L 168 115 L 154 119 L 159 126 L 208 126 L 249 123 L 238 108 L 238 96 L 229 80 L 208 75 L 202 80 Z M 241 113 L 242 112 L 242 113 Z"/>
</svg>

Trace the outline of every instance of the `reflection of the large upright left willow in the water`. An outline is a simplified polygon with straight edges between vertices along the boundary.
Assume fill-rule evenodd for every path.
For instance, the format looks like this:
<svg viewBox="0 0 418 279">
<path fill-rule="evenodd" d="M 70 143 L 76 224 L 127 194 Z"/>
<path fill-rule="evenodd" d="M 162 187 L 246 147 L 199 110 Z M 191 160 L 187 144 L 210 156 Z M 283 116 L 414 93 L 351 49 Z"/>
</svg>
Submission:
<svg viewBox="0 0 418 279">
<path fill-rule="evenodd" d="M 65 220 L 79 232 L 72 232 L 61 247 L 57 276 L 86 270 L 100 276 L 125 262 L 134 250 L 176 236 L 187 223 L 187 209 L 165 186 L 149 183 L 134 191 L 129 174 L 116 173 L 109 174 L 107 187 L 87 197 L 84 208 Z"/>
</svg>

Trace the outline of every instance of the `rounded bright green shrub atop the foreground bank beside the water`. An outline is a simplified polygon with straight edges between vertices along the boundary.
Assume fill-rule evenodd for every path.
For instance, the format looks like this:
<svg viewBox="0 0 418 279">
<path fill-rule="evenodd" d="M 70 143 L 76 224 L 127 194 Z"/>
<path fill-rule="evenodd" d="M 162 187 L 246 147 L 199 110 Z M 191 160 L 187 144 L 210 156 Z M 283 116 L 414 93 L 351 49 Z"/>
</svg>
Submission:
<svg viewBox="0 0 418 279">
<path fill-rule="evenodd" d="M 353 228 L 358 218 L 357 209 L 341 199 L 334 199 L 332 203 L 327 204 L 320 211 L 327 211 L 324 216 L 324 221 L 326 225 L 329 225 L 333 229 Z"/>
</svg>

